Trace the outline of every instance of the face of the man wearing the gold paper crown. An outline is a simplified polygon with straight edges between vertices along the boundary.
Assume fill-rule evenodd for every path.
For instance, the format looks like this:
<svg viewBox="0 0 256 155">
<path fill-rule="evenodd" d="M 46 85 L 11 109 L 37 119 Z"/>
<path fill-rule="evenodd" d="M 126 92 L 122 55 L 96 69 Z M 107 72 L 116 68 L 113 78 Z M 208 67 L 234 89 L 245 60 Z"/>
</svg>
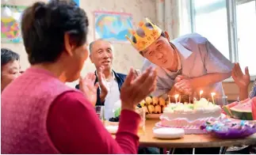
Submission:
<svg viewBox="0 0 256 155">
<path fill-rule="evenodd" d="M 158 40 L 142 51 L 143 56 L 157 66 L 170 68 L 174 66 L 174 48 L 169 40 L 160 36 Z"/>
</svg>

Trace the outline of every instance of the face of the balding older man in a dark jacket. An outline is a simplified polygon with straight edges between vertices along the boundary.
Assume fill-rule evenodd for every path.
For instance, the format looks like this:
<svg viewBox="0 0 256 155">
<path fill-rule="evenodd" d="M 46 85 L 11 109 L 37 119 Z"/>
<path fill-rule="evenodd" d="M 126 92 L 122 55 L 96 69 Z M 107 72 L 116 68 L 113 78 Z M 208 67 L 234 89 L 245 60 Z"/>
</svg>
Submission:
<svg viewBox="0 0 256 155">
<path fill-rule="evenodd" d="M 97 40 L 92 46 L 90 60 L 96 68 L 105 66 L 105 69 L 111 69 L 113 62 L 112 44 L 105 40 Z"/>
</svg>

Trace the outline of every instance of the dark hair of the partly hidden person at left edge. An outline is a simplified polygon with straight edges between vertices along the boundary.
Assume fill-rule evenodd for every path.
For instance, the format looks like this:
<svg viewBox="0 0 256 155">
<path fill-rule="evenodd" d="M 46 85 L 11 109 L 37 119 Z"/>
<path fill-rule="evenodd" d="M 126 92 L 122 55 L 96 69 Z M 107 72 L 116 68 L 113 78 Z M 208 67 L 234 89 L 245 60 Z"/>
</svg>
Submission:
<svg viewBox="0 0 256 155">
<path fill-rule="evenodd" d="M 1 66 L 6 65 L 9 62 L 13 62 L 14 60 L 19 60 L 20 55 L 15 53 L 14 51 L 11 51 L 7 48 L 1 48 Z"/>
</svg>

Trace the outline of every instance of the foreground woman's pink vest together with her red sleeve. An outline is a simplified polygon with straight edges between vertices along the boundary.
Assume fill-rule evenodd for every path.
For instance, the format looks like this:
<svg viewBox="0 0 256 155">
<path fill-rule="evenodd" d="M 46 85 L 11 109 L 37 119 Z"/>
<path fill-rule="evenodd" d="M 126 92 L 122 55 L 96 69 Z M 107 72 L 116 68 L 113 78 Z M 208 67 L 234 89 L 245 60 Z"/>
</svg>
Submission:
<svg viewBox="0 0 256 155">
<path fill-rule="evenodd" d="M 140 117 L 122 110 L 116 139 L 78 90 L 30 68 L 2 92 L 1 153 L 137 153 Z"/>
</svg>

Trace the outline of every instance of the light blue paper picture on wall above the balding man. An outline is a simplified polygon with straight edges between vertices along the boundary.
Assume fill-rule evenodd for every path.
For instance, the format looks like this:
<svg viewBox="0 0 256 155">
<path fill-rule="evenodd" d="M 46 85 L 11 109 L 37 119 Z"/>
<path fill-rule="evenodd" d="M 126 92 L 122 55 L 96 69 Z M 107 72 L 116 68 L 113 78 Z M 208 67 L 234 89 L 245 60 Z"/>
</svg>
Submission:
<svg viewBox="0 0 256 155">
<path fill-rule="evenodd" d="M 125 35 L 131 36 L 128 29 L 132 29 L 132 14 L 94 11 L 94 40 L 128 43 L 125 38 Z"/>
</svg>

